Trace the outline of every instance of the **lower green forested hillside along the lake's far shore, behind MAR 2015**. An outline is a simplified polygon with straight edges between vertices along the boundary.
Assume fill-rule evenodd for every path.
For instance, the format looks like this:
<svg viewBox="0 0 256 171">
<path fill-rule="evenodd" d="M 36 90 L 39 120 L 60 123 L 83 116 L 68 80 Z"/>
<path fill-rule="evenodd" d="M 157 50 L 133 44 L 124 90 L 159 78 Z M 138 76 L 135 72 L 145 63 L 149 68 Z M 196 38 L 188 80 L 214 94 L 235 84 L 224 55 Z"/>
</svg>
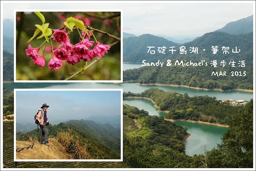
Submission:
<svg viewBox="0 0 256 171">
<path fill-rule="evenodd" d="M 253 90 L 253 67 L 210 67 L 174 65 L 175 62 L 190 63 L 190 60 L 176 58 L 172 60 L 172 66 L 166 66 L 166 62 L 159 66 L 144 66 L 135 69 L 127 69 L 123 72 L 123 80 L 136 80 L 140 84 L 172 84 L 207 89 L 243 89 Z M 186 61 L 186 62 L 185 62 Z M 199 63 L 198 61 L 191 61 Z"/>
</svg>

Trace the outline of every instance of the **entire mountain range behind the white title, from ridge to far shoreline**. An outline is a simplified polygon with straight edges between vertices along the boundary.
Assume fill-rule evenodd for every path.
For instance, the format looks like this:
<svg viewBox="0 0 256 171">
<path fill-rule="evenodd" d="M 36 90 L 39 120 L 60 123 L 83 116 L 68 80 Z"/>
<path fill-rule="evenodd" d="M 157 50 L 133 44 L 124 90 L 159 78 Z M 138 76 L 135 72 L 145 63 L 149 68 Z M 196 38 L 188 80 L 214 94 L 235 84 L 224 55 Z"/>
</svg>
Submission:
<svg viewBox="0 0 256 171">
<path fill-rule="evenodd" d="M 139 37 L 145 37 L 140 39 L 145 45 L 144 48 L 146 42 L 148 44 L 161 42 L 160 40 L 163 39 L 148 34 Z M 129 37 L 131 38 L 129 43 L 141 47 L 139 37 Z M 163 42 L 167 44 L 168 40 L 165 39 Z M 172 42 L 169 41 L 169 43 Z M 152 46 L 157 47 L 154 44 Z M 137 80 L 140 84 L 156 83 L 207 89 L 253 90 L 253 32 L 240 35 L 210 32 L 183 46 L 187 54 L 185 52 L 180 54 L 180 45 L 175 48 L 176 51 L 173 54 L 170 51 L 166 54 L 157 51 L 155 54 L 150 54 L 145 49 L 141 50 L 142 53 L 130 51 L 131 53 L 124 57 L 124 62 L 143 62 L 144 67 L 124 71 L 123 80 Z M 192 52 L 191 47 L 197 47 L 198 53 Z M 127 49 L 124 46 L 124 51 Z M 216 54 L 214 54 L 214 49 L 218 50 Z"/>
</svg>

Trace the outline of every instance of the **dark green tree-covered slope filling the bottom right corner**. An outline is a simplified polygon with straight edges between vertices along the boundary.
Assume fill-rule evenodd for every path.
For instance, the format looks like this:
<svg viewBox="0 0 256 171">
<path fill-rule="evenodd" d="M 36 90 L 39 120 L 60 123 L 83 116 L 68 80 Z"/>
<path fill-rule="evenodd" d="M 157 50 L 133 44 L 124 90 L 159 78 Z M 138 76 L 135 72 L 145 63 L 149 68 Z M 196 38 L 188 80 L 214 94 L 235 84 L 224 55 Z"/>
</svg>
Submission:
<svg viewBox="0 0 256 171">
<path fill-rule="evenodd" d="M 204 167 L 253 168 L 253 99 L 232 115 L 221 139 L 217 148 L 206 152 Z"/>
</svg>

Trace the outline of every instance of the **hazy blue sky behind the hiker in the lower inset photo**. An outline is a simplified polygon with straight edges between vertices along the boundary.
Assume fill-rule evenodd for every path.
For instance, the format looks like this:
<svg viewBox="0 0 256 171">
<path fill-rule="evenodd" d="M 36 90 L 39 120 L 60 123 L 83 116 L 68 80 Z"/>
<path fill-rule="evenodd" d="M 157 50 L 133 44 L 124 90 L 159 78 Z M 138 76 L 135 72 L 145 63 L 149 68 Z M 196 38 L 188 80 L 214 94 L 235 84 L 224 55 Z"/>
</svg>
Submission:
<svg viewBox="0 0 256 171">
<path fill-rule="evenodd" d="M 34 115 L 44 103 L 49 106 L 47 113 L 50 123 L 59 119 L 86 119 L 92 115 L 121 115 L 121 89 L 93 90 L 16 89 L 16 122 L 34 123 Z"/>
</svg>

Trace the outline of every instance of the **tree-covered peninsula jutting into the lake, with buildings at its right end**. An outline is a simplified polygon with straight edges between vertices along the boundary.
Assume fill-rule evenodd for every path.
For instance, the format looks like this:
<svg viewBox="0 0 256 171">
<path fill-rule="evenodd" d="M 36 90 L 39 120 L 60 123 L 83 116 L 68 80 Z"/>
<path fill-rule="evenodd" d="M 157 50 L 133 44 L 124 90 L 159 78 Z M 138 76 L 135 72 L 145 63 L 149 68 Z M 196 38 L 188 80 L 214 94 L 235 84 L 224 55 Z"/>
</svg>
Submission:
<svg viewBox="0 0 256 171">
<path fill-rule="evenodd" d="M 194 120 L 218 124 L 229 124 L 229 119 L 236 114 L 241 106 L 232 106 L 216 100 L 215 97 L 189 97 L 177 92 L 165 92 L 158 88 L 150 88 L 142 93 L 124 92 L 123 97 L 139 97 L 151 99 L 161 111 L 167 111 L 166 119 Z M 135 118 L 136 119 L 136 118 Z"/>
</svg>

